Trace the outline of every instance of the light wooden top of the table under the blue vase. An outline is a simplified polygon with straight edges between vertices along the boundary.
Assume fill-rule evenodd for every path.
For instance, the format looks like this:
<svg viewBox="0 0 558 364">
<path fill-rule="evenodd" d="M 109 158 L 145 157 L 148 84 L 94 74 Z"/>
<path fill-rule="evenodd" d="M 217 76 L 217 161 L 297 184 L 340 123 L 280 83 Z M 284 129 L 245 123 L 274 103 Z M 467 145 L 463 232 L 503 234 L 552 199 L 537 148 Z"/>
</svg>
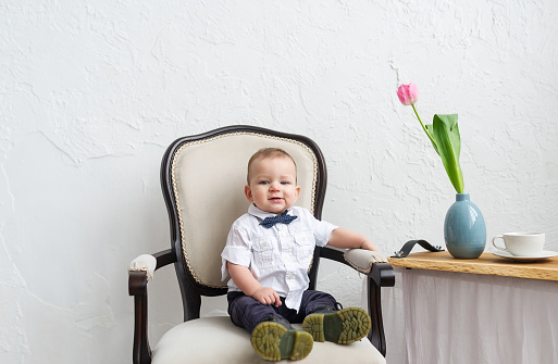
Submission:
<svg viewBox="0 0 558 364">
<path fill-rule="evenodd" d="M 388 258 L 389 264 L 406 268 L 461 272 L 505 277 L 558 281 L 558 256 L 536 262 L 520 262 L 483 253 L 478 259 L 455 259 L 447 251 L 419 252 L 407 258 Z"/>
</svg>

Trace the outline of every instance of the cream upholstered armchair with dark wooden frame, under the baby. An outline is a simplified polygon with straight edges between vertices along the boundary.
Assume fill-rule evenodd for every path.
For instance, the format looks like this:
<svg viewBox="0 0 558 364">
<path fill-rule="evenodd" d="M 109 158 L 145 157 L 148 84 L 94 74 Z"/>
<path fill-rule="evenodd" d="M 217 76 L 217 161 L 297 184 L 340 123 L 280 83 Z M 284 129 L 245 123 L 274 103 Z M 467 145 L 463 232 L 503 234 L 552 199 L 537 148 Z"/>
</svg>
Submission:
<svg viewBox="0 0 558 364">
<path fill-rule="evenodd" d="M 233 222 L 249 202 L 244 196 L 250 155 L 263 147 L 286 150 L 296 161 L 302 192 L 297 201 L 321 217 L 326 168 L 310 139 L 253 126 L 228 126 L 175 140 L 161 164 L 161 187 L 166 203 L 171 248 L 144 254 L 129 266 L 128 290 L 134 297 L 135 364 L 265 363 L 253 352 L 250 336 L 228 317 L 200 318 L 201 297 L 226 294 L 221 281 L 221 251 Z M 208 225 L 206 222 L 211 222 Z M 367 275 L 368 310 L 372 329 L 368 339 L 347 346 L 319 342 L 300 363 L 385 363 L 381 287 L 395 284 L 392 266 L 377 253 L 354 249 L 317 248 L 309 267 L 315 288 L 320 259 L 347 264 Z M 184 307 L 184 323 L 170 329 L 151 350 L 147 331 L 147 285 L 154 271 L 174 264 Z M 281 363 L 281 362 L 280 362 Z"/>
</svg>

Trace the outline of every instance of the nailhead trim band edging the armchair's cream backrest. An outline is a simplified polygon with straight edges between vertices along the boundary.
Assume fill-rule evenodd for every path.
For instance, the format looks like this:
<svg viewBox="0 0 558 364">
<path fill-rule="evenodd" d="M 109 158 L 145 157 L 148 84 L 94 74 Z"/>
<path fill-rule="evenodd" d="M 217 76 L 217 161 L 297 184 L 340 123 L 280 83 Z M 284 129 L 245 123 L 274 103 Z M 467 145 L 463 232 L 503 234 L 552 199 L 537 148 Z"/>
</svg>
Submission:
<svg viewBox="0 0 558 364">
<path fill-rule="evenodd" d="M 188 267 L 188 271 L 190 272 L 191 276 L 194 277 L 194 279 L 196 279 L 196 281 L 200 285 L 203 285 L 206 287 L 211 287 L 211 288 L 223 288 L 223 287 L 226 287 L 226 286 L 214 286 L 214 285 L 208 285 L 206 283 L 202 283 L 199 277 L 196 275 L 196 273 L 194 272 L 194 269 L 191 268 L 191 265 L 190 265 L 190 260 L 189 260 L 189 256 L 188 256 L 188 252 L 186 251 L 186 237 L 184 235 L 184 222 L 183 222 L 183 216 L 182 216 L 182 209 L 181 209 L 181 201 L 178 199 L 178 187 L 177 187 L 177 184 L 176 184 L 176 174 L 175 174 L 175 166 L 176 166 L 176 161 L 177 161 L 177 158 L 178 155 L 181 154 L 181 152 L 189 147 L 189 146 L 194 146 L 194 145 L 201 145 L 201 143 L 204 143 L 204 142 L 209 142 L 209 141 L 213 141 L 213 140 L 216 140 L 216 139 L 220 139 L 220 138 L 224 138 L 224 137 L 232 137 L 232 136 L 241 136 L 241 135 L 245 135 L 245 136 L 256 136 L 256 137 L 263 137 L 263 138 L 268 138 L 268 139 L 275 139 L 275 140 L 282 140 L 282 141 L 287 141 L 287 142 L 292 142 L 292 143 L 295 143 L 295 145 L 298 145 L 302 148 L 305 148 L 310 155 L 312 155 L 312 160 L 313 160 L 313 164 L 314 164 L 314 171 L 313 171 L 313 180 L 312 180 L 312 194 L 311 194 L 311 209 L 310 211 L 313 213 L 314 211 L 314 200 L 315 200 L 315 183 L 317 183 L 317 178 L 318 178 L 318 162 L 315 160 L 315 155 L 314 153 L 312 152 L 312 150 L 310 148 L 308 148 L 308 146 L 306 146 L 305 143 L 300 142 L 300 141 L 296 141 L 296 140 L 292 140 L 292 139 L 287 139 L 287 138 L 280 138 L 280 137 L 275 137 L 275 136 L 269 136 L 269 135 L 263 135 L 263 134 L 258 134 L 258 133 L 231 133 L 231 134 L 224 134 L 224 135 L 219 135 L 219 136 L 215 136 L 213 138 L 208 138 L 208 139 L 203 139 L 203 140 L 195 140 L 195 141 L 190 141 L 190 142 L 187 142 L 185 145 L 183 145 L 181 148 L 178 148 L 178 150 L 175 152 L 174 156 L 173 156 L 173 161 L 172 161 L 172 166 L 171 166 L 171 179 L 172 179 L 172 184 L 173 184 L 173 193 L 174 193 L 174 199 L 176 201 L 176 209 L 177 209 L 177 213 L 178 213 L 178 224 L 179 224 L 179 228 L 181 228 L 181 242 L 182 242 L 182 251 L 183 251 L 183 254 L 184 254 L 184 261 L 186 263 L 186 266 Z M 310 264 L 310 267 L 312 265 Z M 309 267 L 309 269 L 310 269 Z"/>
</svg>

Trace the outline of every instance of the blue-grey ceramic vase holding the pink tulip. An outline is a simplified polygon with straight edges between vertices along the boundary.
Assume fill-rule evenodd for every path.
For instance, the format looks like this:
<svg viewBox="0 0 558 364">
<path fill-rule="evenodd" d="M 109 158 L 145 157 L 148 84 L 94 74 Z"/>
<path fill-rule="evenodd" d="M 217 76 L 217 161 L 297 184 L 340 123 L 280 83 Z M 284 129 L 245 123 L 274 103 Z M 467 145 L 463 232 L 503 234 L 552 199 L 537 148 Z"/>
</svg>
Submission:
<svg viewBox="0 0 558 364">
<path fill-rule="evenodd" d="M 444 240 L 449 253 L 457 259 L 479 258 L 486 246 L 486 224 L 469 193 L 457 193 L 444 222 Z"/>
</svg>

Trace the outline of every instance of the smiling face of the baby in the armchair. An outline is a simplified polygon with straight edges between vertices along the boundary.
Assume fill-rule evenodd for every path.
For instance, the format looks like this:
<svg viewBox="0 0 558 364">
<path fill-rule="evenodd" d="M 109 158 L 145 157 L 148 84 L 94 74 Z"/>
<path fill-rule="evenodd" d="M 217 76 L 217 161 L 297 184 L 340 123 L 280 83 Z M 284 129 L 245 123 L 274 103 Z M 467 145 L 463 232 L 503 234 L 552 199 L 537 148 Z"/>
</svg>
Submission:
<svg viewBox="0 0 558 364">
<path fill-rule="evenodd" d="M 287 156 L 253 161 L 245 193 L 260 210 L 282 214 L 300 194 L 295 163 Z"/>
</svg>

